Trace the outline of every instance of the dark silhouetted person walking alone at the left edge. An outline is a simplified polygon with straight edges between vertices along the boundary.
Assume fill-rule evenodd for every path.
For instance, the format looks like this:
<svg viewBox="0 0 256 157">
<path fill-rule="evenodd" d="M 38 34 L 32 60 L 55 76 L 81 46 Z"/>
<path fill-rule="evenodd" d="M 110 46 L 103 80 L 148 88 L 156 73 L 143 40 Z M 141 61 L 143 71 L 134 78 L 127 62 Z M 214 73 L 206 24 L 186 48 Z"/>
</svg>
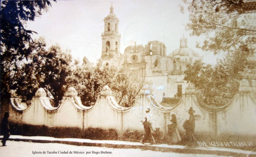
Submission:
<svg viewBox="0 0 256 157">
<path fill-rule="evenodd" d="M 10 137 L 10 128 L 9 128 L 9 121 L 8 121 L 8 118 L 9 118 L 9 112 L 5 112 L 4 113 L 4 118 L 1 122 L 1 134 L 4 135 L 4 138 L 2 140 L 2 143 L 3 143 L 3 146 L 6 146 L 5 143 L 6 143 L 6 140 L 8 140 L 8 138 Z"/>
</svg>

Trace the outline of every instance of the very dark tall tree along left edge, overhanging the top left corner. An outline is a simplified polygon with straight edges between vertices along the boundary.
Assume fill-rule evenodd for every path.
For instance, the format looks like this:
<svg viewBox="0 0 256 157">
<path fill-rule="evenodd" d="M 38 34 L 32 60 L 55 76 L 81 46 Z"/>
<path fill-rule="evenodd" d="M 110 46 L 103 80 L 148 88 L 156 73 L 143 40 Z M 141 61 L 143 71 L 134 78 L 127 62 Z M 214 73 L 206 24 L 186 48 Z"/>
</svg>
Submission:
<svg viewBox="0 0 256 157">
<path fill-rule="evenodd" d="M 33 31 L 24 24 L 47 11 L 49 5 L 50 1 L 1 1 L 1 98 L 16 88 L 19 66 L 32 53 L 28 44 Z"/>
</svg>

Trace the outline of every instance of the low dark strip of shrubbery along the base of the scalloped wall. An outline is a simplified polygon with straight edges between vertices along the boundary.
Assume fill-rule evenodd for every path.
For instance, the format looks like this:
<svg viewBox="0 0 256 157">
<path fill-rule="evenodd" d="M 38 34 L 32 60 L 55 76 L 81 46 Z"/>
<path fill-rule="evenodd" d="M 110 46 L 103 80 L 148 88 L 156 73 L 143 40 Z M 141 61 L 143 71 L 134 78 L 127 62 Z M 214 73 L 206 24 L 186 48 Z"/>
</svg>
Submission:
<svg viewBox="0 0 256 157">
<path fill-rule="evenodd" d="M 83 138 L 83 139 L 92 139 L 92 140 L 122 140 L 122 141 L 131 141 L 131 142 L 140 142 L 142 140 L 142 136 L 144 134 L 143 131 L 130 131 L 126 130 L 126 132 L 118 138 L 117 131 L 115 129 L 101 129 L 101 128 L 64 128 L 64 127 L 47 127 L 45 125 L 29 125 L 29 124 L 14 124 L 10 123 L 10 132 L 11 135 L 22 135 L 22 136 L 47 136 L 47 137 L 56 137 L 56 138 Z M 151 131 L 152 135 L 155 138 L 154 131 Z M 167 134 L 161 134 L 161 140 L 159 144 L 167 143 L 165 141 Z M 187 143 L 184 141 L 185 135 L 180 133 L 182 141 L 177 145 L 186 145 Z M 201 144 L 205 142 L 207 146 L 211 146 L 210 143 L 213 142 L 252 142 L 253 145 L 247 146 L 220 146 L 226 148 L 235 148 L 235 149 L 243 149 L 243 150 L 252 150 L 255 149 L 255 138 L 248 136 L 230 136 L 230 135 L 220 135 L 213 136 L 211 134 L 196 134 L 196 141 L 192 142 L 193 146 L 200 146 L 198 142 Z M 210 143 L 209 143 L 210 142 Z"/>
</svg>

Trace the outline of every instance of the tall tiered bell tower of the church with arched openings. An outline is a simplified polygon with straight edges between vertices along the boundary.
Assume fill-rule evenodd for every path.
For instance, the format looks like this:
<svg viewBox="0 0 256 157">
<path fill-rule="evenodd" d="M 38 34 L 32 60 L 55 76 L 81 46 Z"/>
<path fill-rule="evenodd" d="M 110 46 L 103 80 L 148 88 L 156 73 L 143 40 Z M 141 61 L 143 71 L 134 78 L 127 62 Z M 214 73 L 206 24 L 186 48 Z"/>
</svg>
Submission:
<svg viewBox="0 0 256 157">
<path fill-rule="evenodd" d="M 120 58 L 120 39 L 118 33 L 119 20 L 114 14 L 114 8 L 110 7 L 110 13 L 104 19 L 104 32 L 102 33 L 102 52 L 101 59 Z"/>
</svg>

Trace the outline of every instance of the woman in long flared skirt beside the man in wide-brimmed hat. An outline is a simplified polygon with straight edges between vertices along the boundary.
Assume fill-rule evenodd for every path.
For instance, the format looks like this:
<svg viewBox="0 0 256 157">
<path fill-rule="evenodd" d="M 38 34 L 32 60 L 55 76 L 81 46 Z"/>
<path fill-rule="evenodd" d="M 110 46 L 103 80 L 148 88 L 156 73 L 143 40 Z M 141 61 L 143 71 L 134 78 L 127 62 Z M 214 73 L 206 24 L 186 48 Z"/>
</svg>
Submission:
<svg viewBox="0 0 256 157">
<path fill-rule="evenodd" d="M 176 144 L 181 141 L 180 133 L 177 129 L 177 119 L 176 115 L 171 115 L 172 119 L 168 122 L 168 134 L 167 134 L 167 143 L 168 144 Z"/>
</svg>

